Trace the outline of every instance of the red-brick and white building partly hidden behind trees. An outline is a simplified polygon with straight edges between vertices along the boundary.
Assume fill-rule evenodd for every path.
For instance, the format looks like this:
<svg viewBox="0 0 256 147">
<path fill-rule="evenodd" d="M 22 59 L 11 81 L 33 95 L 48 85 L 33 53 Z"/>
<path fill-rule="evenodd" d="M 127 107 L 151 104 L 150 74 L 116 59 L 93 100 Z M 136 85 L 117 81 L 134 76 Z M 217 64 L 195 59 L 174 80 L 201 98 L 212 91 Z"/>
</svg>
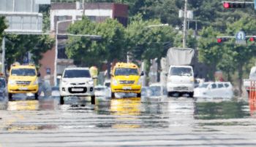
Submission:
<svg viewBox="0 0 256 147">
<path fill-rule="evenodd" d="M 56 33 L 56 23 L 61 20 L 70 20 L 59 23 L 59 33 L 66 33 L 70 23 L 83 15 L 83 6 L 80 2 L 76 3 L 51 3 L 50 10 L 50 33 Z M 128 19 L 128 6 L 127 4 L 114 4 L 114 3 L 86 3 L 85 15 L 89 17 L 91 22 L 102 23 L 107 18 L 113 18 L 127 27 Z M 74 65 L 73 60 L 69 60 L 65 54 L 68 36 L 58 36 L 58 60 L 57 60 L 57 74 L 61 75 L 64 68 L 69 65 Z M 54 75 L 54 60 L 55 60 L 55 47 L 44 54 L 44 58 L 39 62 L 42 67 L 39 68 L 41 78 L 50 82 L 53 85 Z"/>
</svg>

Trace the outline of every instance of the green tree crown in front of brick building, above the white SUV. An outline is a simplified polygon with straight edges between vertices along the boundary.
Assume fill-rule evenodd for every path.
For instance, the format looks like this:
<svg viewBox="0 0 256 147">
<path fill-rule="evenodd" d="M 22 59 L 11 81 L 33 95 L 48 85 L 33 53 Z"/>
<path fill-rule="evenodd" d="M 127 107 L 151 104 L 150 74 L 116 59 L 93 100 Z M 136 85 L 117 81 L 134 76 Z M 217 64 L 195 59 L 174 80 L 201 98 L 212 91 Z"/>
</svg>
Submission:
<svg viewBox="0 0 256 147">
<path fill-rule="evenodd" d="M 95 65 L 108 60 L 108 73 L 110 62 L 114 59 L 124 60 L 127 52 L 127 41 L 124 26 L 117 20 L 108 18 L 104 23 L 91 23 L 89 18 L 83 16 L 83 20 L 69 25 L 67 29 L 73 34 L 90 34 L 102 36 L 101 41 L 91 41 L 90 37 L 70 36 L 67 45 L 67 57 L 81 60 L 86 66 Z"/>
</svg>

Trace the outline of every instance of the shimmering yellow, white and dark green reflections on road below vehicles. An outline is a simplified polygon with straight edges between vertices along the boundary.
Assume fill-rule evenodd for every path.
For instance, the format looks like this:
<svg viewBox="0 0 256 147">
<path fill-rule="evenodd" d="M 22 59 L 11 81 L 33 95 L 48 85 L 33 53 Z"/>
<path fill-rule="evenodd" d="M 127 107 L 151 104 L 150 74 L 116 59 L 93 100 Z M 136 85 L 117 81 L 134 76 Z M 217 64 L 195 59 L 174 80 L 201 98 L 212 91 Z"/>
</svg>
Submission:
<svg viewBox="0 0 256 147">
<path fill-rule="evenodd" d="M 90 98 L 67 98 L 65 103 L 64 106 L 60 106 L 59 98 L 39 98 L 39 100 L 18 99 L 11 102 L 2 99 L 0 101 L 0 108 L 6 111 L 62 111 L 72 114 L 91 113 L 93 116 L 98 116 L 99 121 L 92 122 L 89 126 L 116 128 L 196 126 L 197 124 L 191 120 L 256 117 L 255 100 L 250 100 L 248 103 L 248 100 L 236 99 L 208 100 L 207 98 L 167 97 L 124 97 L 112 99 L 98 97 L 96 98 L 95 106 L 91 105 Z M 105 122 L 107 119 L 108 121 Z"/>
</svg>

